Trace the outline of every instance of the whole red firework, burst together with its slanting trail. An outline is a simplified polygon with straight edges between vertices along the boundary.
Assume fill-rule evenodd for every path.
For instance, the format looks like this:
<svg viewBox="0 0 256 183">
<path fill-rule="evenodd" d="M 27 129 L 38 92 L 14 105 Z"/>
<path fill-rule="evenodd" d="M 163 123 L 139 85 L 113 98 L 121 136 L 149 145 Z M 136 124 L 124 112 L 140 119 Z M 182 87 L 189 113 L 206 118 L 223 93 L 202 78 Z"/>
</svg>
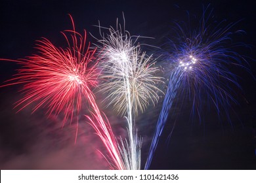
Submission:
<svg viewBox="0 0 256 183">
<path fill-rule="evenodd" d="M 20 60 L 2 59 L 22 65 L 18 74 L 3 86 L 24 84 L 24 97 L 15 106 L 20 107 L 19 110 L 37 103 L 33 112 L 40 107 L 46 107 L 49 115 L 64 114 L 63 125 L 69 118 L 72 122 L 77 114 L 77 130 L 78 114 L 81 112 L 83 101 L 87 100 L 93 116 L 87 118 L 108 150 L 109 156 L 105 157 L 113 169 L 124 169 L 116 138 L 108 120 L 105 122 L 102 118 L 91 91 L 97 85 L 99 75 L 96 67 L 96 49 L 91 49 L 90 43 L 86 45 L 86 31 L 84 36 L 77 33 L 74 21 L 71 16 L 70 18 L 73 30 L 62 32 L 68 43 L 66 49 L 57 48 L 47 39 L 43 39 L 37 41 L 38 54 Z M 77 134 L 75 141 L 76 138 Z"/>
</svg>

